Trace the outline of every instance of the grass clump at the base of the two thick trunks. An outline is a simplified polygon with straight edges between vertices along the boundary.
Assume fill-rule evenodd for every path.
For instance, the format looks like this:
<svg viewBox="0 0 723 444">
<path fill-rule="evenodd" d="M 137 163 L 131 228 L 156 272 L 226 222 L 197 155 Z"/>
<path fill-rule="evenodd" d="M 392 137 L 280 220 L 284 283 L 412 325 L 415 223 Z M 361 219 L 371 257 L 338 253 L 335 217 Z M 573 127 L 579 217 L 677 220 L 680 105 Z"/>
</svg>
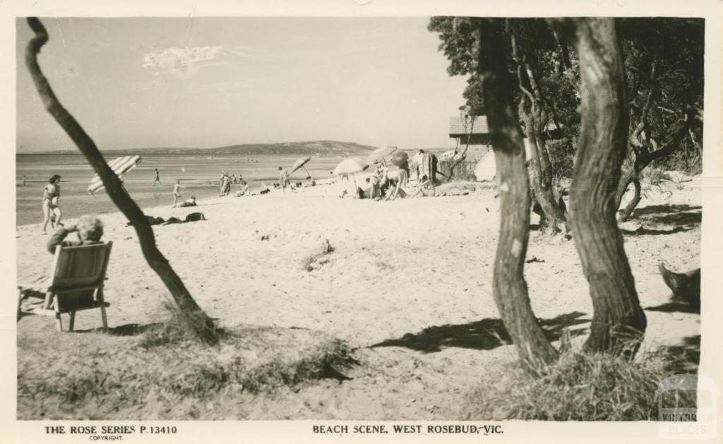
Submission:
<svg viewBox="0 0 723 444">
<path fill-rule="evenodd" d="M 659 382 L 674 374 L 679 359 L 664 351 L 642 353 L 632 362 L 569 351 L 542 377 L 506 364 L 471 393 L 466 419 L 657 421 Z M 681 393 L 681 402 L 696 404 L 695 391 Z"/>
</svg>

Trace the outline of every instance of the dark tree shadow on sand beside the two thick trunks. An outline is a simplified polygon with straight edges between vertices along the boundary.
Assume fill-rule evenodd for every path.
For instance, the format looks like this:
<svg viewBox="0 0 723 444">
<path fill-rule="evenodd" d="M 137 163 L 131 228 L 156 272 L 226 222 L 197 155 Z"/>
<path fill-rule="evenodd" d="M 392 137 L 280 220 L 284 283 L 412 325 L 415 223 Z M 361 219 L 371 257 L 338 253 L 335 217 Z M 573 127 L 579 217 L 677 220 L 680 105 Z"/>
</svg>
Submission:
<svg viewBox="0 0 723 444">
<path fill-rule="evenodd" d="M 552 319 L 540 320 L 540 324 L 547 339 L 556 341 L 562 335 L 563 328 L 589 323 L 590 320 L 583 318 L 584 315 L 583 312 L 570 312 Z M 585 328 L 578 328 L 571 330 L 570 333 L 572 336 L 578 336 L 585 330 Z M 395 346 L 432 353 L 449 347 L 492 350 L 511 343 L 512 339 L 505 329 L 505 325 L 502 324 L 502 320 L 488 317 L 469 324 L 435 325 L 416 334 L 407 333 L 401 338 L 375 343 L 371 347 Z"/>
</svg>

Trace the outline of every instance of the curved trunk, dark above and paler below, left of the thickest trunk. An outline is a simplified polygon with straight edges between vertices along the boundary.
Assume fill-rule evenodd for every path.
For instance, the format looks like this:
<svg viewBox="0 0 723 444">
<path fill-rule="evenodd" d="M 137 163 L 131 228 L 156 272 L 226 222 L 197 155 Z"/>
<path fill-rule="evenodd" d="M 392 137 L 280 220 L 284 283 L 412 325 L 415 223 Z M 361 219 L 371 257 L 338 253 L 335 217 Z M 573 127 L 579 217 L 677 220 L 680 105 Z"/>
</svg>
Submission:
<svg viewBox="0 0 723 444">
<path fill-rule="evenodd" d="M 519 119 L 502 53 L 502 30 L 501 19 L 489 19 L 480 25 L 479 31 L 479 74 L 500 184 L 500 240 L 492 294 L 524 366 L 539 372 L 555 362 L 557 351 L 547 341 L 532 311 L 523 274 L 529 238 L 529 182 Z"/>
</svg>

